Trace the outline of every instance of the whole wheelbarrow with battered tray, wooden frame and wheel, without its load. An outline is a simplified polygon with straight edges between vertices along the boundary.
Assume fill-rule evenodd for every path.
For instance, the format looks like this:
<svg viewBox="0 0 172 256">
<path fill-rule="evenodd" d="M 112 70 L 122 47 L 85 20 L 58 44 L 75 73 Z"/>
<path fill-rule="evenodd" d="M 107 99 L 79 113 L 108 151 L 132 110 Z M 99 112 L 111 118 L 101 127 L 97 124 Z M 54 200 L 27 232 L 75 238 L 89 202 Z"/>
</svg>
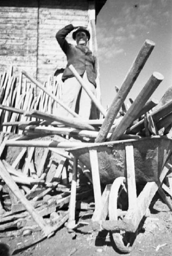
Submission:
<svg viewBox="0 0 172 256">
<path fill-rule="evenodd" d="M 92 174 L 95 199 L 91 220 L 93 230 L 109 230 L 118 250 L 129 253 L 155 193 L 158 191 L 166 198 L 161 186 L 167 174 L 172 184 L 172 140 L 152 136 L 139 140 L 95 143 L 68 151 L 74 155 L 74 164 L 67 227 L 76 227 L 75 196 L 79 160 Z M 140 193 L 136 189 L 138 184 L 143 187 Z M 101 186 L 104 187 L 103 193 Z M 172 187 L 170 189 L 172 195 Z M 170 202 L 168 206 L 172 210 Z"/>
</svg>

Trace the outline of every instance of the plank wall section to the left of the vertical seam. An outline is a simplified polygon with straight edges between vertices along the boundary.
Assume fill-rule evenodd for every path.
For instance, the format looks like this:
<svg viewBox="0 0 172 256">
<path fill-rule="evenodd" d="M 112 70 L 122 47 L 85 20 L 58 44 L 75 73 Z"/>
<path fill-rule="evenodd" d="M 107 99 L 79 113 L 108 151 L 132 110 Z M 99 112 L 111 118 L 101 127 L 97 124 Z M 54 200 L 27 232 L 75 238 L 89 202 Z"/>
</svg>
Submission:
<svg viewBox="0 0 172 256">
<path fill-rule="evenodd" d="M 38 3 L 27 2 L 0 0 L 0 73 L 12 63 L 36 76 Z"/>
</svg>

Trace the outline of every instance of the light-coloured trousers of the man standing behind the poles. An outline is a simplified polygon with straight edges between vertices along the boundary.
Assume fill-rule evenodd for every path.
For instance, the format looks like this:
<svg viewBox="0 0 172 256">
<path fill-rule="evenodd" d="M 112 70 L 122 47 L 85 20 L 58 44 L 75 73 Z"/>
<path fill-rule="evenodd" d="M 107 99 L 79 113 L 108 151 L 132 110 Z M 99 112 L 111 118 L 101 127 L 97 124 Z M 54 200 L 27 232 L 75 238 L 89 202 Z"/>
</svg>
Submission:
<svg viewBox="0 0 172 256">
<path fill-rule="evenodd" d="M 87 88 L 93 94 L 95 94 L 95 87 L 92 83 L 90 83 L 90 81 L 88 81 L 86 71 L 82 79 L 87 85 Z M 75 111 L 76 101 L 78 99 L 81 88 L 82 88 L 81 84 L 79 84 L 79 82 L 76 80 L 75 77 L 66 79 L 63 84 L 62 96 L 60 100 L 73 111 Z M 90 111 L 91 111 L 91 99 L 87 95 L 85 90 L 82 88 L 80 101 L 79 101 L 79 116 L 82 117 L 82 119 L 89 119 Z M 62 108 L 62 106 L 60 105 L 58 105 L 57 107 L 57 115 L 72 117 L 72 115 L 67 110 L 65 110 L 65 108 Z"/>
</svg>

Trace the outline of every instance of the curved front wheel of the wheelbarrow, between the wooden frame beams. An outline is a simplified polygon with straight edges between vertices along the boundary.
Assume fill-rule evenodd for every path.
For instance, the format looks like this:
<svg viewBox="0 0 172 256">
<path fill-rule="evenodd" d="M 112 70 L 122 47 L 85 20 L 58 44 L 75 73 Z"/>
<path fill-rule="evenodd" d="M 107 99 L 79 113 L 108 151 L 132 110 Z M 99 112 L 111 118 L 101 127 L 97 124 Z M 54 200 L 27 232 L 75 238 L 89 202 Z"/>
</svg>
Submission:
<svg viewBox="0 0 172 256">
<path fill-rule="evenodd" d="M 109 219 L 110 221 L 116 221 L 118 220 L 118 201 L 121 195 L 121 192 L 126 193 L 126 199 L 127 199 L 127 189 L 124 185 L 125 178 L 124 177 L 118 177 L 116 180 L 114 180 L 112 187 L 110 189 L 110 195 L 109 195 Z M 126 200 L 125 200 L 126 201 Z M 121 202 L 120 202 L 121 203 Z M 133 233 L 126 233 L 125 231 L 113 231 L 112 232 L 112 239 L 114 243 L 116 244 L 116 247 L 118 250 L 122 253 L 130 253 L 132 250 L 130 247 L 130 240 L 132 239 Z"/>
</svg>

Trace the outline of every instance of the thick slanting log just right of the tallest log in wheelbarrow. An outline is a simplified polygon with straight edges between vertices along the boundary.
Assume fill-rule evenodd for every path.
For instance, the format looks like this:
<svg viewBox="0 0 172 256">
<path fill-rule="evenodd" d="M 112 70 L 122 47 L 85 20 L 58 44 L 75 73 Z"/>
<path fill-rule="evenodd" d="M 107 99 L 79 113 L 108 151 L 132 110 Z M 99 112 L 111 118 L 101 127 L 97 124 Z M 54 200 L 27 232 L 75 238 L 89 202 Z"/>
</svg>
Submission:
<svg viewBox="0 0 172 256">
<path fill-rule="evenodd" d="M 126 129 L 135 120 L 135 117 L 138 116 L 138 113 L 141 111 L 149 97 L 152 95 L 152 93 L 155 91 L 155 89 L 158 87 L 163 79 L 164 76 L 162 76 L 158 72 L 154 72 L 152 74 L 152 76 L 147 81 L 141 92 L 138 94 L 137 98 L 135 99 L 119 125 L 116 127 L 111 140 L 118 140 L 120 136 L 124 133 L 124 131 L 126 131 Z"/>
</svg>

